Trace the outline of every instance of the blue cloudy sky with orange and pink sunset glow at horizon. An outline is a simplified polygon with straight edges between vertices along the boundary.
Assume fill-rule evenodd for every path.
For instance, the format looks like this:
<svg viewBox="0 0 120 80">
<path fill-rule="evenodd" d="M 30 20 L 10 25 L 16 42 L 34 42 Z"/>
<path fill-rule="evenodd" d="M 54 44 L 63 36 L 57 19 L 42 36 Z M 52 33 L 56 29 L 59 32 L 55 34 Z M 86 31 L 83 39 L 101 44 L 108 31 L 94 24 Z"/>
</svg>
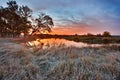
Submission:
<svg viewBox="0 0 120 80">
<path fill-rule="evenodd" d="M 8 0 L 0 0 L 6 6 Z M 120 0 L 16 0 L 27 5 L 33 16 L 44 12 L 53 18 L 53 34 L 120 35 Z"/>
</svg>

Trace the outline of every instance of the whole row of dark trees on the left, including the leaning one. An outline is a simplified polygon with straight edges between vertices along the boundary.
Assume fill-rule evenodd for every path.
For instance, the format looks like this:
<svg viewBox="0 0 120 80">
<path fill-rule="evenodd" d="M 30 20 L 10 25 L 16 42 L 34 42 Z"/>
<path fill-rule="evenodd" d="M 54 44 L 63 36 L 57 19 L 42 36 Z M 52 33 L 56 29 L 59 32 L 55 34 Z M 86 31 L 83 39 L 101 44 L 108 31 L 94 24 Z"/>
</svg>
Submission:
<svg viewBox="0 0 120 80">
<path fill-rule="evenodd" d="M 14 0 L 6 4 L 7 7 L 0 6 L 0 37 L 19 37 L 21 33 L 27 36 L 29 29 L 32 29 L 31 34 L 45 30 L 51 31 L 50 26 L 53 22 L 48 15 L 42 13 L 38 15 L 38 18 L 33 18 L 33 11 L 28 6 L 20 6 Z"/>
</svg>

